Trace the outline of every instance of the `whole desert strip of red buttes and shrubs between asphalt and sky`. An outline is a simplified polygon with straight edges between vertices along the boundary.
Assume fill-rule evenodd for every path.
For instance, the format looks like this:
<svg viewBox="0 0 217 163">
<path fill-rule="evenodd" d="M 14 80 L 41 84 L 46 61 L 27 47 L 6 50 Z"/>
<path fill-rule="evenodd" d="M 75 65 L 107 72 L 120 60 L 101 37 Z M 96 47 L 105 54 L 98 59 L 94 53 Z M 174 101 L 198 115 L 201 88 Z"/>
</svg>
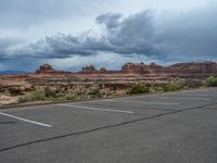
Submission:
<svg viewBox="0 0 217 163">
<path fill-rule="evenodd" d="M 215 86 L 216 62 L 126 63 L 119 71 L 84 66 L 79 72 L 53 70 L 46 63 L 35 73 L 0 75 L 0 104 L 66 101 Z M 212 83 L 212 84 L 210 84 Z M 136 89 L 136 90 L 135 90 Z"/>
</svg>

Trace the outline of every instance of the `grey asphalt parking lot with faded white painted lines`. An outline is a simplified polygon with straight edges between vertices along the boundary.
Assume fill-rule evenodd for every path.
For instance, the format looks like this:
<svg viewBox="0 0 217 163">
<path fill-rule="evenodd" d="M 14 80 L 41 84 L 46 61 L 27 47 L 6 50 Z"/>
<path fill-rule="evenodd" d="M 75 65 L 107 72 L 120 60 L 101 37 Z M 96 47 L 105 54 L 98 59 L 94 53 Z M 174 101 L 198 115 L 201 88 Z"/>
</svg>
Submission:
<svg viewBox="0 0 217 163">
<path fill-rule="evenodd" d="M 217 89 L 0 110 L 0 163 L 216 163 Z"/>
</svg>

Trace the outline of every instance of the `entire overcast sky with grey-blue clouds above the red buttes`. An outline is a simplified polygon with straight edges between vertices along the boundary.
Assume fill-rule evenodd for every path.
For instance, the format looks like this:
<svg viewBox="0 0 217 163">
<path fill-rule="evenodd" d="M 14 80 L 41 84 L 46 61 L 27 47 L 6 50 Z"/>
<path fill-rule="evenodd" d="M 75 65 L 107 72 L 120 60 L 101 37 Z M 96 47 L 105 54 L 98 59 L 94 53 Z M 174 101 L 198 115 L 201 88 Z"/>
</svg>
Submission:
<svg viewBox="0 0 217 163">
<path fill-rule="evenodd" d="M 216 0 L 0 0 L 0 71 L 217 61 Z"/>
</svg>

